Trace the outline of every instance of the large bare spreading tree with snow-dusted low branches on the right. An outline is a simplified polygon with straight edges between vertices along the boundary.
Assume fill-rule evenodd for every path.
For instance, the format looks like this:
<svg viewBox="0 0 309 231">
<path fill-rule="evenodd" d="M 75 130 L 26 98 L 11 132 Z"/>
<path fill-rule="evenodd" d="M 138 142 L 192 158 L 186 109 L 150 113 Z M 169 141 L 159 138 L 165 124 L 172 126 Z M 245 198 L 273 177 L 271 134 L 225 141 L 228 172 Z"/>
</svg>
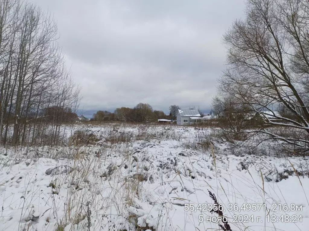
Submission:
<svg viewBox="0 0 309 231">
<path fill-rule="evenodd" d="M 251 132 L 303 151 L 309 151 L 308 31 L 308 1 L 248 0 L 245 19 L 236 20 L 224 35 L 229 67 L 218 87 L 219 97 L 248 105 L 267 124 L 298 131 L 286 135 L 266 128 Z M 275 115 L 279 106 L 288 113 Z"/>
</svg>

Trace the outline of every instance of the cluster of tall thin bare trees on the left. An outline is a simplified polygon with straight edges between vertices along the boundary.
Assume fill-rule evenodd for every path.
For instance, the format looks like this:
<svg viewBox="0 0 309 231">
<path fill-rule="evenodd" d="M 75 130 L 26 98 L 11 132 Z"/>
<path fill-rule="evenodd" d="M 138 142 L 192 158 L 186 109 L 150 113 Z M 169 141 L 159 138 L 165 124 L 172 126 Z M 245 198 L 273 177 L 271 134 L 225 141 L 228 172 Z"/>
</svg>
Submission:
<svg viewBox="0 0 309 231">
<path fill-rule="evenodd" d="M 25 1 L 0 0 L 0 12 L 0 144 L 56 144 L 61 123 L 76 117 L 80 91 L 57 25 Z"/>
</svg>

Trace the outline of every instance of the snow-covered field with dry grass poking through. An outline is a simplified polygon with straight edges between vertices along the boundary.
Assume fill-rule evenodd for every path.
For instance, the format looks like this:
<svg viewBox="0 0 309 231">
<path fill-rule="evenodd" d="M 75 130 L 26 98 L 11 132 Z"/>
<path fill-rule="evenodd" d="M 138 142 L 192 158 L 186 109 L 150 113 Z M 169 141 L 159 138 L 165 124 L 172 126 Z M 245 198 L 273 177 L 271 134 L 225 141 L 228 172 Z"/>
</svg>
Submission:
<svg viewBox="0 0 309 231">
<path fill-rule="evenodd" d="M 309 230 L 309 160 L 275 144 L 237 155 L 210 129 L 74 130 L 97 139 L 0 149 L 0 230 Z"/>
</svg>

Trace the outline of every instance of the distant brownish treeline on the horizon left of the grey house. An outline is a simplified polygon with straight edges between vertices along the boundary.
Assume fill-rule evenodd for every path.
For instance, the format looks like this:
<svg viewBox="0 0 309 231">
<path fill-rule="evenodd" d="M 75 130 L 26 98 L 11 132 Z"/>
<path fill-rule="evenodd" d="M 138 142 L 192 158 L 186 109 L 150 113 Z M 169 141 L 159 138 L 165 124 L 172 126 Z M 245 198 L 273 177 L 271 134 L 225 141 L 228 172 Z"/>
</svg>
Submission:
<svg viewBox="0 0 309 231">
<path fill-rule="evenodd" d="M 95 121 L 126 121 L 126 122 L 151 122 L 158 119 L 172 119 L 163 111 L 153 110 L 148 103 L 138 103 L 135 107 L 119 107 L 114 112 L 97 111 L 93 114 Z"/>
</svg>

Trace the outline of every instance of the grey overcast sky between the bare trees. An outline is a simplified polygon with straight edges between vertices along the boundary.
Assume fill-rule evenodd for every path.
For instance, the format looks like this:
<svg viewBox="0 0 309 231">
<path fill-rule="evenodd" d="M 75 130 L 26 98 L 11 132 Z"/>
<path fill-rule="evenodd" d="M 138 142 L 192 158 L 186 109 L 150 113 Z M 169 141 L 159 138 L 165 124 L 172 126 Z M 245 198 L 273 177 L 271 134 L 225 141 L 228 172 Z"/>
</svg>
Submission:
<svg viewBox="0 0 309 231">
<path fill-rule="evenodd" d="M 149 103 L 209 110 L 222 35 L 243 0 L 33 0 L 53 13 L 85 111 Z"/>
</svg>

